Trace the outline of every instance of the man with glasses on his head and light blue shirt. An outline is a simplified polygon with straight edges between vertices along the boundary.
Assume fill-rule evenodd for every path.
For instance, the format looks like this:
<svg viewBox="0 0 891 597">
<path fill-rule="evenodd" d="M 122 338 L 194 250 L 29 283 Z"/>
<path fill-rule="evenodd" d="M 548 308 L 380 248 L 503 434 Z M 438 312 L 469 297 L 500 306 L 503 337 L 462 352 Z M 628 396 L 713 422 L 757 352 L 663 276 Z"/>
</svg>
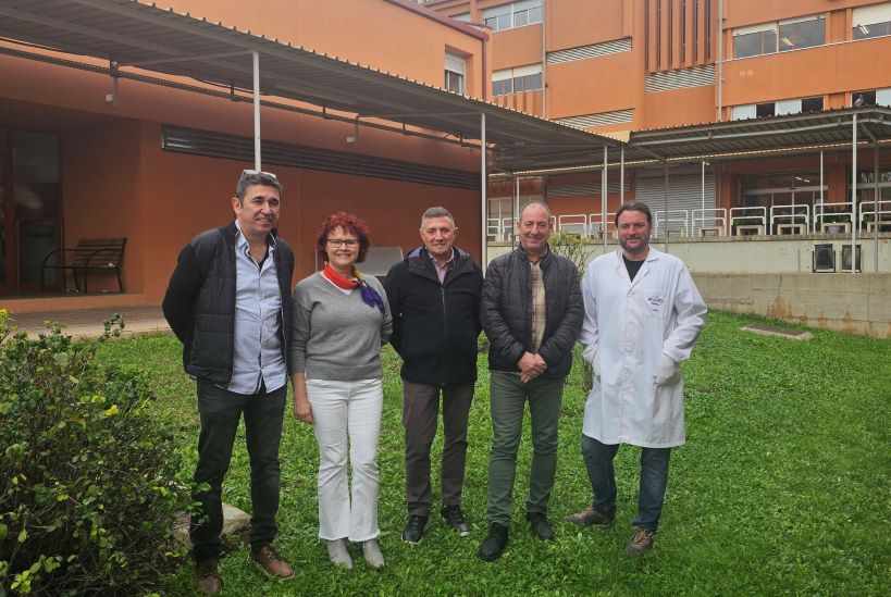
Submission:
<svg viewBox="0 0 891 597">
<path fill-rule="evenodd" d="M 277 533 L 279 445 L 287 395 L 294 253 L 277 237 L 282 185 L 274 174 L 246 170 L 232 198 L 235 221 L 206 231 L 180 252 L 164 296 L 164 316 L 183 343 L 183 366 L 197 381 L 201 432 L 193 518 L 195 582 L 219 593 L 222 484 L 242 414 L 250 456 L 251 557 L 270 575 L 294 570 L 272 542 Z"/>
</svg>

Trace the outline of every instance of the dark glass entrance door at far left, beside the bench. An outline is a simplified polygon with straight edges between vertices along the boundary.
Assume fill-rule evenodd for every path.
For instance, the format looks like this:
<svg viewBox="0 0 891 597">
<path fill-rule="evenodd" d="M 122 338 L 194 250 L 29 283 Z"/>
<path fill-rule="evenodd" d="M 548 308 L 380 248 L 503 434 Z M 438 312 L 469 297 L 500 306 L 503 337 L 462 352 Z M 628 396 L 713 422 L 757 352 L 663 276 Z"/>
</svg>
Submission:
<svg viewBox="0 0 891 597">
<path fill-rule="evenodd" d="M 38 291 L 44 259 L 61 246 L 59 137 L 0 128 L 0 294 Z"/>
</svg>

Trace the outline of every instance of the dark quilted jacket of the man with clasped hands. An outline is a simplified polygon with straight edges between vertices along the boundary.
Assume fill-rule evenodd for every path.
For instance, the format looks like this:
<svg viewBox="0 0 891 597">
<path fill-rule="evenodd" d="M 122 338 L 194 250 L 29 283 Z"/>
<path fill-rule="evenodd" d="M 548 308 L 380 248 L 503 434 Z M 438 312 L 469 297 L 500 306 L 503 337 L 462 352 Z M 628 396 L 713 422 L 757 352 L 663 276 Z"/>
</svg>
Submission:
<svg viewBox="0 0 891 597">
<path fill-rule="evenodd" d="M 517 362 L 532 346 L 532 272 L 521 247 L 492 260 L 485 273 L 482 320 L 488 336 L 488 368 L 519 372 Z M 542 377 L 566 377 L 572 347 L 582 331 L 584 303 L 576 264 L 548 250 L 541 261 L 545 286 L 545 329 L 539 356 Z"/>
</svg>

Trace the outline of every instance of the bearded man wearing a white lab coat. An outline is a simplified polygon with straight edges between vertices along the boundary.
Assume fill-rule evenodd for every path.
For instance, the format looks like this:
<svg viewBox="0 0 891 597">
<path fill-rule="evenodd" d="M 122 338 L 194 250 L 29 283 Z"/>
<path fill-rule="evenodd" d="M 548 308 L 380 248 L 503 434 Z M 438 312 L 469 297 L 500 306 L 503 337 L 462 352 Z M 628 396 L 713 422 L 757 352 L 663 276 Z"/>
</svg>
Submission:
<svg viewBox="0 0 891 597">
<path fill-rule="evenodd" d="M 626 550 L 645 554 L 659 523 L 671 448 L 684 443 L 679 363 L 705 323 L 706 307 L 677 257 L 649 247 L 653 215 L 641 202 L 616 214 L 621 250 L 595 259 L 582 281 L 584 359 L 594 369 L 582 426 L 592 505 L 567 521 L 606 525 L 616 517 L 612 460 L 621 444 L 641 446 L 634 535 Z"/>
</svg>

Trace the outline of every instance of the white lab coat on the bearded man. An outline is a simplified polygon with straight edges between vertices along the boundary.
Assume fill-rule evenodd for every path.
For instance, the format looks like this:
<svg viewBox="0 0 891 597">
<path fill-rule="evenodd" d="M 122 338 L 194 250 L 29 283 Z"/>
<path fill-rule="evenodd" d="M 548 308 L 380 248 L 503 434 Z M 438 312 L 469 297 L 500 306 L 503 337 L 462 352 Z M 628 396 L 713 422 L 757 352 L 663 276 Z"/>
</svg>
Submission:
<svg viewBox="0 0 891 597">
<path fill-rule="evenodd" d="M 683 262 L 651 247 L 631 282 L 617 250 L 587 266 L 582 296 L 581 341 L 595 372 L 582 433 L 603 444 L 683 444 L 680 370 L 667 383 L 655 383 L 661 355 L 676 363 L 690 358 L 705 324 L 705 302 Z"/>
</svg>

